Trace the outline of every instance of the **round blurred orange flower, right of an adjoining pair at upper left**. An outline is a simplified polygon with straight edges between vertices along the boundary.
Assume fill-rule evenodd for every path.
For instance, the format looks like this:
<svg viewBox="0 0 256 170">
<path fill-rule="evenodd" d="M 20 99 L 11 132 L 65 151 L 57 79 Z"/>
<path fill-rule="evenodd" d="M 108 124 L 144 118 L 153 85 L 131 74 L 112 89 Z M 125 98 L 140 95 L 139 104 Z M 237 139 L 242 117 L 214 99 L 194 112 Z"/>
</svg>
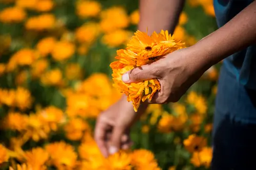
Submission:
<svg viewBox="0 0 256 170">
<path fill-rule="evenodd" d="M 68 41 L 59 41 L 55 44 L 52 57 L 56 61 L 69 59 L 75 53 L 75 45 Z"/>
</svg>

